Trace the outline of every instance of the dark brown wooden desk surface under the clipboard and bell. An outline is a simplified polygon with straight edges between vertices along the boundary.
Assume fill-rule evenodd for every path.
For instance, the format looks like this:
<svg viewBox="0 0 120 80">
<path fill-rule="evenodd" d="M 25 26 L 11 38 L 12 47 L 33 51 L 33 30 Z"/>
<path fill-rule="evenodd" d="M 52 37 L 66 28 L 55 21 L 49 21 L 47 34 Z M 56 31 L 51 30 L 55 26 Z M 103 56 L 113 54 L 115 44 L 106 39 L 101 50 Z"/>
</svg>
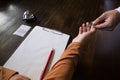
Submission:
<svg viewBox="0 0 120 80">
<path fill-rule="evenodd" d="M 73 39 L 83 22 L 93 21 L 102 12 L 118 6 L 119 0 L 1 0 L 0 65 L 6 62 L 25 39 L 13 35 L 21 24 L 32 28 L 39 25 L 56 29 L 71 35 Z M 37 21 L 22 21 L 25 10 L 33 12 Z M 73 80 L 119 80 L 120 25 L 112 32 L 98 33 L 92 63 L 90 69 L 78 65 Z"/>
</svg>

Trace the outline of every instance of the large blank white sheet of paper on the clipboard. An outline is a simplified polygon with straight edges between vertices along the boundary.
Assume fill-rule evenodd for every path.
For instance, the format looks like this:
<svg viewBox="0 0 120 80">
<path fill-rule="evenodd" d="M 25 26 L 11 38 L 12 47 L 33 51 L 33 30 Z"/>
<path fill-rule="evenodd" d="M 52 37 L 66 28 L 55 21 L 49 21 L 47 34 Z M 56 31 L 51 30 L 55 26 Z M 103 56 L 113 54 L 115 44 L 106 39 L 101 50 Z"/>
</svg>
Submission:
<svg viewBox="0 0 120 80">
<path fill-rule="evenodd" d="M 62 55 L 69 37 L 67 34 L 36 26 L 4 67 L 18 71 L 31 80 L 39 80 L 51 49 L 55 49 L 53 65 Z"/>
</svg>

